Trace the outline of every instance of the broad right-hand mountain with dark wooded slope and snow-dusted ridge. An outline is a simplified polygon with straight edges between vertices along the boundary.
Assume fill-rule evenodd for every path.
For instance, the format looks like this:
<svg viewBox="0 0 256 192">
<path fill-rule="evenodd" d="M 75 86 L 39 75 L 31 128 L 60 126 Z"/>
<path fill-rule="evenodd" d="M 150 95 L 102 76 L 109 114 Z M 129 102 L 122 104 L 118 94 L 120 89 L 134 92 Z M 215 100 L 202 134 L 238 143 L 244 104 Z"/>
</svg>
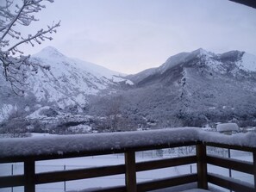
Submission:
<svg viewBox="0 0 256 192">
<path fill-rule="evenodd" d="M 135 88 L 124 97 L 133 106 L 124 110 L 159 127 L 256 120 L 256 56 L 249 53 L 198 49 L 128 78 Z"/>
</svg>

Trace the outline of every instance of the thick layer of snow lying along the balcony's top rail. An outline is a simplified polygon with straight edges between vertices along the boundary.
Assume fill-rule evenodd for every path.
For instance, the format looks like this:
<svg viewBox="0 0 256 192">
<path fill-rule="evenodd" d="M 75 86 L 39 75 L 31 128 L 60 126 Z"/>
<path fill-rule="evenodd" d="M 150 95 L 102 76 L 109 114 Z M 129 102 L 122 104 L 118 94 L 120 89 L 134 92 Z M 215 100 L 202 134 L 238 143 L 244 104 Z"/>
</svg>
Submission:
<svg viewBox="0 0 256 192">
<path fill-rule="evenodd" d="M 0 139 L 0 158 L 36 158 L 41 155 L 62 157 L 68 153 L 122 152 L 134 147 L 143 149 L 147 146 L 166 146 L 193 141 L 256 147 L 256 133 L 237 133 L 229 136 L 206 132 L 197 127 L 184 127 L 122 133 L 56 135 L 48 138 Z"/>
</svg>

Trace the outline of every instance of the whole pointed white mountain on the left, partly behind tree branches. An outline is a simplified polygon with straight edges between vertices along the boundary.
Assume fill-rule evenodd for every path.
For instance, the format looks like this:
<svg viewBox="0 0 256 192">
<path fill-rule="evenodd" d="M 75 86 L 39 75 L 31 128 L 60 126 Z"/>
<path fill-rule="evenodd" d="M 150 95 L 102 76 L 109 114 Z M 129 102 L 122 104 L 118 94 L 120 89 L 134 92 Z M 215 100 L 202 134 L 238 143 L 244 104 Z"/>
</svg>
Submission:
<svg viewBox="0 0 256 192">
<path fill-rule="evenodd" d="M 120 89 L 120 84 L 132 84 L 116 71 L 68 58 L 52 46 L 32 55 L 30 59 L 36 65 L 48 66 L 50 70 L 38 67 L 36 74 L 29 74 L 25 82 L 28 86 L 22 98 L 14 96 L 8 86 L 2 87 L 0 120 L 12 110 L 32 110 L 35 105 L 84 108 L 88 96 L 116 91 Z M 2 85 L 6 84 L 3 77 L 0 80 Z"/>
</svg>

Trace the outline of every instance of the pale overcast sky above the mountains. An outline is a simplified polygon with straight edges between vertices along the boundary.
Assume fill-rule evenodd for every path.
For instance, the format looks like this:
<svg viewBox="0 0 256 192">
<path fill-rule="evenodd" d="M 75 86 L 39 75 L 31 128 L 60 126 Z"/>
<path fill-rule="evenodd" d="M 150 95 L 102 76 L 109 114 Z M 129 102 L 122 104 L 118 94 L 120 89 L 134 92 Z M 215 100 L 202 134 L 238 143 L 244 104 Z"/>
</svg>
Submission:
<svg viewBox="0 0 256 192">
<path fill-rule="evenodd" d="M 61 20 L 52 41 L 22 46 L 37 53 L 54 46 L 69 57 L 135 73 L 176 53 L 204 48 L 256 55 L 256 9 L 228 0 L 55 0 L 30 28 Z"/>
</svg>

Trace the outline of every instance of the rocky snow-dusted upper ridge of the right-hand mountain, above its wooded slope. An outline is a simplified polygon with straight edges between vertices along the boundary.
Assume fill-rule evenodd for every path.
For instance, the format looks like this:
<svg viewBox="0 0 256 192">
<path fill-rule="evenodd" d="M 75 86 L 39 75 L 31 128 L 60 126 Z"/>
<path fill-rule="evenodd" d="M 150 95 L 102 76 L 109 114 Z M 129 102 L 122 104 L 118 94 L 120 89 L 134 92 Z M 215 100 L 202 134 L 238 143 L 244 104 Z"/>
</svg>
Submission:
<svg viewBox="0 0 256 192">
<path fill-rule="evenodd" d="M 256 56 L 240 51 L 215 54 L 200 48 L 191 53 L 178 53 L 167 59 L 158 68 L 147 69 L 129 75 L 128 78 L 136 84 L 150 84 L 153 80 L 165 78 L 166 74 L 169 74 L 169 77 L 177 76 L 180 73 L 178 73 L 178 69 L 196 66 L 219 74 L 246 75 L 247 73 L 256 72 Z M 170 75 L 170 72 L 176 74 Z"/>
</svg>

